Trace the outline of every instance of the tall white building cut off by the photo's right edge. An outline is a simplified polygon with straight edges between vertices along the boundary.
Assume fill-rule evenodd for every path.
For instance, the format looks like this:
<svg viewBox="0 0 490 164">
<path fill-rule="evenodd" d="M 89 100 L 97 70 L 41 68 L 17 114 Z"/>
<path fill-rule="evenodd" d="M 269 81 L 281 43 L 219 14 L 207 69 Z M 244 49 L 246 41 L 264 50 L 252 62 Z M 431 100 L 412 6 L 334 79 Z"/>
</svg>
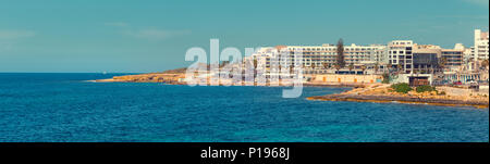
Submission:
<svg viewBox="0 0 490 164">
<path fill-rule="evenodd" d="M 488 60 L 489 59 L 489 45 L 488 45 L 488 31 L 481 31 L 481 29 L 475 29 L 475 52 L 474 59 Z"/>
</svg>

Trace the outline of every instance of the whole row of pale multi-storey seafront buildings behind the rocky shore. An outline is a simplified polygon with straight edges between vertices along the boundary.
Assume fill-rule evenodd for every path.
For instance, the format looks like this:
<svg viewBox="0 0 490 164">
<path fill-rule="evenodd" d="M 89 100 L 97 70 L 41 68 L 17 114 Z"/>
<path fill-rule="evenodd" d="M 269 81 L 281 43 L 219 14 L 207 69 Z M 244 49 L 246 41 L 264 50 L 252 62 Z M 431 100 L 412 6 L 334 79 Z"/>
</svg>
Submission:
<svg viewBox="0 0 490 164">
<path fill-rule="evenodd" d="M 294 59 L 301 50 L 302 59 Z M 287 60 L 274 60 L 287 52 Z M 388 45 L 344 46 L 345 67 L 334 68 L 338 60 L 335 45 L 321 46 L 278 46 L 261 48 L 250 58 L 266 74 L 278 70 L 278 65 L 296 65 L 302 61 L 303 74 L 380 74 L 387 66 L 397 74 L 434 74 L 477 71 L 478 62 L 489 59 L 489 33 L 475 30 L 475 46 L 465 48 L 456 43 L 453 49 L 434 45 L 417 45 L 413 40 L 393 40 Z M 297 65 L 296 65 L 297 66 Z M 444 73 L 445 74 L 445 73 Z M 418 78 L 418 77 L 417 77 Z M 424 77 L 426 78 L 426 77 Z M 437 77 L 438 78 L 438 77 Z"/>
</svg>

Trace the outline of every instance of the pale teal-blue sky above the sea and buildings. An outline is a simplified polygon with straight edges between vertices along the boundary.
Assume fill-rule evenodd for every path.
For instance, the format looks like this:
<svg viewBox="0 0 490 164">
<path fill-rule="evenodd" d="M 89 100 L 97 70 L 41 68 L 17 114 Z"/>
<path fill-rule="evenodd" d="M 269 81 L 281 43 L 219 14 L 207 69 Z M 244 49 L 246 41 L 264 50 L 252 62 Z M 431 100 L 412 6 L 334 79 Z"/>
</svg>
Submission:
<svg viewBox="0 0 490 164">
<path fill-rule="evenodd" d="M 0 0 L 0 72 L 145 73 L 185 51 L 413 39 L 473 46 L 489 0 Z"/>
</svg>

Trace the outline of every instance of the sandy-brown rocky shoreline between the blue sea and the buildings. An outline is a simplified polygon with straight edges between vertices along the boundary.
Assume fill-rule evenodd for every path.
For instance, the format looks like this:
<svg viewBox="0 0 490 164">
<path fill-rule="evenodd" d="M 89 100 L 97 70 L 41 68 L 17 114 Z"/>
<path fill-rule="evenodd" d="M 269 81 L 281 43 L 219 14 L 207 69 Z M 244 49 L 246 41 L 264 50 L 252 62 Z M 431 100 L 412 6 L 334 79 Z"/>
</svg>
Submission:
<svg viewBox="0 0 490 164">
<path fill-rule="evenodd" d="M 181 73 L 150 73 L 139 75 L 114 76 L 109 79 L 87 80 L 93 83 L 164 83 L 168 85 L 186 85 L 181 79 L 185 78 L 185 74 Z M 221 85 L 221 84 L 220 84 Z M 270 86 L 270 85 L 245 85 L 244 86 Z M 284 86 L 284 85 L 279 85 Z M 453 88 L 440 87 L 439 89 L 448 92 L 441 96 L 437 92 L 417 93 L 411 91 L 408 93 L 396 93 L 390 90 L 390 85 L 384 84 L 352 84 L 352 83 L 304 83 L 307 87 L 350 87 L 342 93 L 308 97 L 307 100 L 313 101 L 352 101 L 352 102 L 376 102 L 376 103 L 409 103 L 409 104 L 429 104 L 443 106 L 475 106 L 478 109 L 488 109 L 488 93 L 483 96 L 462 94 L 460 92 L 452 93 Z"/>
</svg>

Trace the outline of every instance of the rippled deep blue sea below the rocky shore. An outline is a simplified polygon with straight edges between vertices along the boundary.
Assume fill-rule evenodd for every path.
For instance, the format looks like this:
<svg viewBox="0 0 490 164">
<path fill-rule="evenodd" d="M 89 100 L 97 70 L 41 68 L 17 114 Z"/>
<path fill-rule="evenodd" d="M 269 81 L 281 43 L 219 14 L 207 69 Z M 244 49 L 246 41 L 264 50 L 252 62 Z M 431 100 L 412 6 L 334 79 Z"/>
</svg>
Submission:
<svg viewBox="0 0 490 164">
<path fill-rule="evenodd" d="M 489 110 L 308 101 L 348 88 L 87 83 L 114 74 L 0 74 L 0 141 L 488 142 Z"/>
</svg>

